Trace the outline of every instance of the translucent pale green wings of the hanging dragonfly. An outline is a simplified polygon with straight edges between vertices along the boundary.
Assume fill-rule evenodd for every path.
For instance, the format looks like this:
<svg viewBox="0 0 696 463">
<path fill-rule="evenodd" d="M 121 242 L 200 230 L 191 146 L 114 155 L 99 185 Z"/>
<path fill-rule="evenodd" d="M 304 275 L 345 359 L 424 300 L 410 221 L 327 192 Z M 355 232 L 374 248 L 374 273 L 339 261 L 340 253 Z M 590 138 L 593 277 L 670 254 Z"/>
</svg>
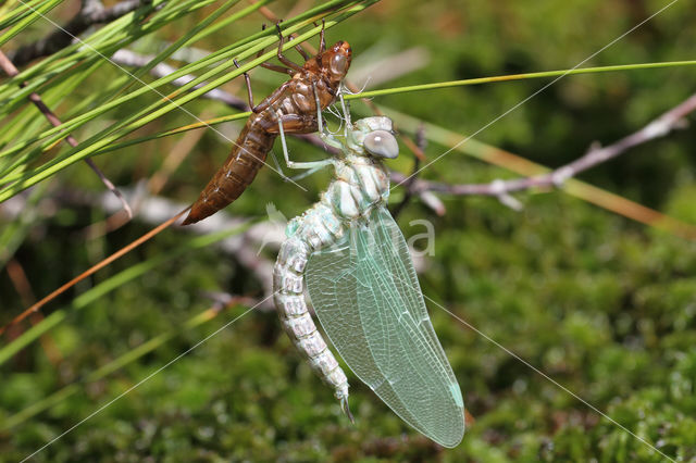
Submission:
<svg viewBox="0 0 696 463">
<path fill-rule="evenodd" d="M 312 254 L 306 276 L 319 321 L 350 370 L 408 424 L 457 446 L 464 434 L 459 385 L 389 212 L 373 210 L 335 247 Z"/>
</svg>

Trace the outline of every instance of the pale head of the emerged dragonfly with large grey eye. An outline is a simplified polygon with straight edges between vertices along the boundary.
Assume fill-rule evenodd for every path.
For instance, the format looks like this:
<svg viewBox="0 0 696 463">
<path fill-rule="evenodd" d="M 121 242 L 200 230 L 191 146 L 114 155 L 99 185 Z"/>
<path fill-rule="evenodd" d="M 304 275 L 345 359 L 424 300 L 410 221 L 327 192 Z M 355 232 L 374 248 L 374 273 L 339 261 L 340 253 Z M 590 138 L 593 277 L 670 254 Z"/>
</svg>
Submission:
<svg viewBox="0 0 696 463">
<path fill-rule="evenodd" d="M 394 136 L 394 124 L 389 117 L 361 118 L 348 133 L 348 145 L 374 158 L 395 159 L 399 155 L 399 143 Z"/>
</svg>

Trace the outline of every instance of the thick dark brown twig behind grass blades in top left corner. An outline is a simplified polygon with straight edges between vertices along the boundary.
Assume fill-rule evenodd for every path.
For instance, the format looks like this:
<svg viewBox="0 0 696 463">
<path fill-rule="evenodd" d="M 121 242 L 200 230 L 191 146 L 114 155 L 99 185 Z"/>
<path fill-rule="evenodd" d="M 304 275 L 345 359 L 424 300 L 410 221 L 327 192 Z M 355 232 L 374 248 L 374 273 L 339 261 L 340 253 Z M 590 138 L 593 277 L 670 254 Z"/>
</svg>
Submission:
<svg viewBox="0 0 696 463">
<path fill-rule="evenodd" d="M 150 0 L 123 0 L 113 7 L 104 8 L 99 1 L 84 0 L 79 13 L 61 28 L 8 54 L 15 65 L 23 66 L 37 58 L 48 57 L 70 46 L 73 37 L 77 37 L 90 26 L 114 21 L 149 2 Z"/>
</svg>

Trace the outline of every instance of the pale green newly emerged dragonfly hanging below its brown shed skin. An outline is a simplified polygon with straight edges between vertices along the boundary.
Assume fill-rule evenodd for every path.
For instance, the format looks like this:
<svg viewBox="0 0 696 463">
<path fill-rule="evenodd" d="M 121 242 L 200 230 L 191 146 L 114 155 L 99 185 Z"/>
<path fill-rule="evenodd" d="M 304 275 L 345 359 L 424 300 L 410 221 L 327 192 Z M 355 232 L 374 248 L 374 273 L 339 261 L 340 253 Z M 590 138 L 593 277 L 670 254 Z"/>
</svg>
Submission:
<svg viewBox="0 0 696 463">
<path fill-rule="evenodd" d="M 343 103 L 343 99 L 341 99 Z M 386 208 L 389 175 L 384 159 L 399 147 L 388 117 L 350 123 L 345 139 L 323 129 L 339 154 L 288 167 L 335 176 L 319 202 L 291 220 L 273 272 L 274 300 L 283 327 L 312 370 L 334 389 L 343 411 L 348 380 L 320 335 L 321 326 L 350 370 L 406 423 L 452 448 L 464 434 L 464 404 L 457 378 L 433 328 L 411 255 Z"/>
</svg>

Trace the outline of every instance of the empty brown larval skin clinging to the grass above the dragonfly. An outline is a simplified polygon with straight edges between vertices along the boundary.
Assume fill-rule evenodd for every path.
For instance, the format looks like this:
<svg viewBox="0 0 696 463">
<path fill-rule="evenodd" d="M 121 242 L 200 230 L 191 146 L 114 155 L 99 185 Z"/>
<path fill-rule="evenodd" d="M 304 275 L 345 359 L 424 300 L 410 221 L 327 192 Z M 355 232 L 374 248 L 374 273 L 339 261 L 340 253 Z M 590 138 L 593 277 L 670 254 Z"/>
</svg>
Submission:
<svg viewBox="0 0 696 463">
<path fill-rule="evenodd" d="M 299 66 L 282 54 L 283 37 L 278 47 L 278 59 L 288 67 L 265 64 L 264 67 L 288 73 L 291 78 L 257 107 L 252 112 L 225 163 L 208 183 L 191 207 L 184 225 L 194 224 L 220 211 L 253 182 L 259 168 L 278 136 L 278 123 L 286 134 L 309 134 L 318 129 L 316 101 L 321 110 L 335 100 L 340 82 L 350 66 L 350 46 L 340 40 L 326 49 L 323 30 L 319 53 Z M 249 77 L 247 86 L 249 86 Z"/>
</svg>

